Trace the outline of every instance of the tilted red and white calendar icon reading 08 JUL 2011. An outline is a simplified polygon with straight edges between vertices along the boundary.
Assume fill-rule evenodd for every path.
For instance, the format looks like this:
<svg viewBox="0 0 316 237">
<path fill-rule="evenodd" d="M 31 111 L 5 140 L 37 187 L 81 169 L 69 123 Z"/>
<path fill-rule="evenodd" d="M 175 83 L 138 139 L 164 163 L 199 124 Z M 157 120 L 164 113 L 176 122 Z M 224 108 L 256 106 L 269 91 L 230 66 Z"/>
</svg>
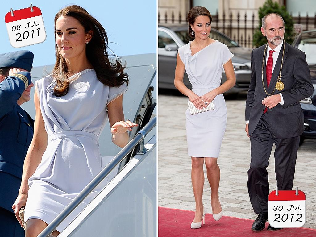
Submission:
<svg viewBox="0 0 316 237">
<path fill-rule="evenodd" d="M 46 32 L 42 12 L 30 4 L 29 8 L 9 11 L 5 15 L 10 44 L 15 48 L 42 43 Z"/>
</svg>

